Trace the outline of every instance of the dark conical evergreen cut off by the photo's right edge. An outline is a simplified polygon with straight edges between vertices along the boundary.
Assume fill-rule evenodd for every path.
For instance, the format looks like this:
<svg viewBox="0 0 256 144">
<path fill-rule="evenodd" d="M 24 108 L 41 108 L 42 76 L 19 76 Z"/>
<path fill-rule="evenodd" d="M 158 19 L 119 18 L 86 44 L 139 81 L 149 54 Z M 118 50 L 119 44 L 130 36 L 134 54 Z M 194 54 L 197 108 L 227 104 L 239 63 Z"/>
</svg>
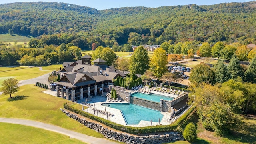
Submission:
<svg viewBox="0 0 256 144">
<path fill-rule="evenodd" d="M 254 56 L 249 68 L 244 73 L 244 82 L 256 83 L 256 56 Z"/>
</svg>

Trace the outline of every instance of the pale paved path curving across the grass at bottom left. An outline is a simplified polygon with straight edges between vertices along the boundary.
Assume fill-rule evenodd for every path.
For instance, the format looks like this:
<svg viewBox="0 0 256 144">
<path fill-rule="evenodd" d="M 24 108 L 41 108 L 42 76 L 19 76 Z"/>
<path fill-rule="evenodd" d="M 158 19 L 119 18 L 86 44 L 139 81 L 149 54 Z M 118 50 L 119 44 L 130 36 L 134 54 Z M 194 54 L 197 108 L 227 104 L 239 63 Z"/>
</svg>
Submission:
<svg viewBox="0 0 256 144">
<path fill-rule="evenodd" d="M 45 130 L 50 130 L 53 132 L 58 132 L 60 134 L 64 134 L 70 136 L 70 138 L 76 138 L 88 144 L 117 144 L 116 142 L 111 142 L 109 140 L 103 138 L 95 138 L 92 136 L 87 136 L 85 134 L 80 134 L 78 132 L 73 132 L 71 130 L 67 130 L 58 126 L 54 126 L 51 124 L 45 124 L 42 122 L 36 122 L 32 120 L 21 120 L 21 119 L 14 119 L 14 118 L 0 118 L 0 122 L 11 123 L 11 124 L 21 124 L 25 126 L 33 126 L 36 128 L 42 128 Z"/>
</svg>

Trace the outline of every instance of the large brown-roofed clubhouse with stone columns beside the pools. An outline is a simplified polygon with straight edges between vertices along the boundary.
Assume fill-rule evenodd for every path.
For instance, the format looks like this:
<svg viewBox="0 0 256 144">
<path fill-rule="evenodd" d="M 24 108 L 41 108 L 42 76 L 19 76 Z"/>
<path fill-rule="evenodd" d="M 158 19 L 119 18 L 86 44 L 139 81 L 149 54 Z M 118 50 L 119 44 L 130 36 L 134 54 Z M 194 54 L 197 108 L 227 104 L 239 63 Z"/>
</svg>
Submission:
<svg viewBox="0 0 256 144">
<path fill-rule="evenodd" d="M 64 68 L 60 70 L 63 76 L 58 82 L 55 82 L 58 85 L 57 96 L 61 95 L 64 98 L 64 94 L 66 94 L 66 99 L 72 101 L 84 99 L 84 97 L 90 98 L 102 91 L 107 92 L 108 88 L 104 87 L 112 85 L 113 79 L 118 76 L 126 76 L 113 66 L 107 66 L 106 61 L 100 58 L 92 61 L 94 65 L 90 65 L 90 56 L 83 56 L 81 61 L 82 64 L 80 61 L 80 64 L 78 62 L 63 63 Z"/>
</svg>

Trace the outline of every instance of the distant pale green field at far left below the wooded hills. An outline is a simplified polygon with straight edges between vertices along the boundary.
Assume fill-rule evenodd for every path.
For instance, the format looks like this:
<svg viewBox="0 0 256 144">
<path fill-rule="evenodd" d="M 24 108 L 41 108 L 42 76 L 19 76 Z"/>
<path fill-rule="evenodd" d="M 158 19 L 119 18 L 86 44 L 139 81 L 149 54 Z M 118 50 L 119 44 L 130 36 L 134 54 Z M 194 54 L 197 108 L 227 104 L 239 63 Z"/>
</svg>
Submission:
<svg viewBox="0 0 256 144">
<path fill-rule="evenodd" d="M 0 42 L 3 43 L 11 43 L 14 45 L 14 42 L 16 41 L 17 44 L 24 44 L 24 42 L 28 43 L 33 37 L 31 36 L 20 36 L 20 35 L 10 35 L 10 34 L 0 34 Z"/>
</svg>

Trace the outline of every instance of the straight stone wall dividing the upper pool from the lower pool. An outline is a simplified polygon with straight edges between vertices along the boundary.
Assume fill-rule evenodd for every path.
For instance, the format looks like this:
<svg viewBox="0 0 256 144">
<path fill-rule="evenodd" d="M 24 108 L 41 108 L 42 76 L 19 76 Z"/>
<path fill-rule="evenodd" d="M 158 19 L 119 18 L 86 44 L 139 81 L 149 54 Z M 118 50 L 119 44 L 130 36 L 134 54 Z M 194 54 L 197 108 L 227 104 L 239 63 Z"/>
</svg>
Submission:
<svg viewBox="0 0 256 144">
<path fill-rule="evenodd" d="M 160 104 L 158 102 L 151 102 L 148 100 L 140 99 L 140 98 L 134 98 L 133 96 L 130 97 L 130 103 L 131 104 L 137 104 L 139 106 L 144 106 L 146 108 L 152 108 L 154 110 L 160 110 Z"/>
</svg>

